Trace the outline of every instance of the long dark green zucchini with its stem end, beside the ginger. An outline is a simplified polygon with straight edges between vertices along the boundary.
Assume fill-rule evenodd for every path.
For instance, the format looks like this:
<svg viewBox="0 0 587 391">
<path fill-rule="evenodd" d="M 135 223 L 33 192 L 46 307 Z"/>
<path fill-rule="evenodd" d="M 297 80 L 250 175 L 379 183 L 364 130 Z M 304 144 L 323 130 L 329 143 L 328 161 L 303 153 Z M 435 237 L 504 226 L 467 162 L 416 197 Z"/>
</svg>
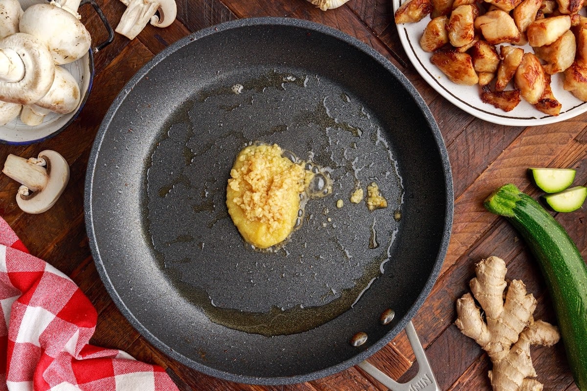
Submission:
<svg viewBox="0 0 587 391">
<path fill-rule="evenodd" d="M 495 190 L 485 208 L 505 216 L 538 260 L 554 304 L 575 383 L 587 391 L 587 265 L 565 229 L 512 184 Z"/>
</svg>

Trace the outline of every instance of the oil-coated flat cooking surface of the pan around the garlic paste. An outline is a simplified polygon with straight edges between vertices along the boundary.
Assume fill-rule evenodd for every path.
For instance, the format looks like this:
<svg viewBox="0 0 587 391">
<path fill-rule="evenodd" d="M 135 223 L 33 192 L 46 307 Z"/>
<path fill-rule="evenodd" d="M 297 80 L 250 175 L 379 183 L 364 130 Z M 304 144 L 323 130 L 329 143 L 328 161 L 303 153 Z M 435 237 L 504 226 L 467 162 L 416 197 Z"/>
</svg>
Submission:
<svg viewBox="0 0 587 391">
<path fill-rule="evenodd" d="M 393 218 L 403 183 L 387 127 L 332 81 L 292 70 L 233 75 L 197 91 L 168 120 L 147 164 L 143 226 L 159 267 L 211 321 L 244 332 L 303 332 L 360 305 L 394 261 L 402 223 Z M 332 181 L 332 196 L 309 202 L 274 253 L 247 248 L 225 206 L 232 162 L 250 140 L 279 144 L 318 170 L 309 193 Z M 373 181 L 388 208 L 346 202 Z"/>
</svg>

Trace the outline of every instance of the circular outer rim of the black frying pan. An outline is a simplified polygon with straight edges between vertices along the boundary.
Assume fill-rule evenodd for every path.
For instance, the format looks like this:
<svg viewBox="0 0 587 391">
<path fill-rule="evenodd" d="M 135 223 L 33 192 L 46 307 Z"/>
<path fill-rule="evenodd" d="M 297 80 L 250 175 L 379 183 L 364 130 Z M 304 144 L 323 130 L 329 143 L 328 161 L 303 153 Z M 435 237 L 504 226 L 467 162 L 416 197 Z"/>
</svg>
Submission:
<svg viewBox="0 0 587 391">
<path fill-rule="evenodd" d="M 384 335 L 383 338 L 379 339 L 379 341 L 377 341 L 375 344 L 365 349 L 365 351 L 357 352 L 357 354 L 352 358 L 342 361 L 336 365 L 329 366 L 328 368 L 324 368 L 321 370 L 316 370 L 314 372 L 305 373 L 302 375 L 282 377 L 256 377 L 248 375 L 238 375 L 235 373 L 226 372 L 224 370 L 219 370 L 211 368 L 210 366 L 203 365 L 202 363 L 193 361 L 192 359 L 187 358 L 181 353 L 178 353 L 171 349 L 169 346 L 164 344 L 164 342 L 158 339 L 156 335 L 152 334 L 146 327 L 144 327 L 144 325 L 141 324 L 139 319 L 134 317 L 133 313 L 129 310 L 129 308 L 126 307 L 124 301 L 117 293 L 116 289 L 114 288 L 114 284 L 110 280 L 106 268 L 104 267 L 102 258 L 100 257 L 100 250 L 96 242 L 96 235 L 93 226 L 92 194 L 93 178 L 96 172 L 97 157 L 99 155 L 100 147 L 102 146 L 102 142 L 106 135 L 106 131 L 109 128 L 110 122 L 112 121 L 114 114 L 116 114 L 117 110 L 122 105 L 122 103 L 126 99 L 127 95 L 130 93 L 130 91 L 133 89 L 133 87 L 137 83 L 139 83 L 139 81 L 142 80 L 143 77 L 146 76 L 146 74 L 150 72 L 151 69 L 153 69 L 153 67 L 156 67 L 157 64 L 164 60 L 168 55 L 176 52 L 184 46 L 189 45 L 194 40 L 206 38 L 215 33 L 224 32 L 231 29 L 243 28 L 247 26 L 288 26 L 304 28 L 318 33 L 322 33 L 324 35 L 331 36 L 332 38 L 338 40 L 342 40 L 348 45 L 355 47 L 360 52 L 366 53 L 367 55 L 372 57 L 380 66 L 386 69 L 387 72 L 391 73 L 394 77 L 396 77 L 396 79 L 399 80 L 400 83 L 402 83 L 402 85 L 404 86 L 404 88 L 410 93 L 411 97 L 413 97 L 414 103 L 417 104 L 417 107 L 420 109 L 421 113 L 424 115 L 424 118 L 429 124 L 430 131 L 433 135 L 433 139 L 436 142 L 438 154 L 440 155 L 440 161 L 444 168 L 443 171 L 445 183 L 446 208 L 444 210 L 445 217 L 443 235 L 441 237 L 440 248 L 438 249 L 438 254 L 436 260 L 434 261 L 434 266 L 431 270 L 430 276 L 427 278 L 427 281 L 424 284 L 424 288 L 420 291 L 420 294 L 417 296 L 417 299 L 416 301 L 414 301 L 414 304 L 411 305 L 409 310 L 406 312 L 406 315 L 402 319 L 400 319 L 400 321 L 392 329 L 390 329 L 390 331 L 387 332 L 387 334 Z M 124 88 L 120 91 L 118 96 L 114 99 L 113 103 L 111 104 L 106 115 L 104 115 L 104 119 L 97 132 L 95 141 L 92 146 L 92 150 L 90 152 L 86 172 L 84 193 L 86 230 L 89 237 L 90 250 L 92 251 L 92 255 L 95 260 L 96 269 L 99 273 L 100 278 L 103 281 L 104 287 L 106 288 L 107 292 L 112 298 L 112 301 L 114 302 L 114 304 L 116 304 L 117 308 L 119 308 L 120 312 L 122 312 L 124 317 L 130 322 L 130 324 L 139 332 L 139 334 L 143 335 L 151 344 L 156 346 L 157 349 L 164 352 L 167 356 L 170 356 L 172 359 L 181 362 L 184 365 L 189 366 L 190 368 L 203 372 L 207 375 L 214 376 L 215 378 L 230 380 L 232 382 L 249 383 L 257 385 L 285 385 L 292 383 L 302 383 L 310 380 L 324 378 L 326 376 L 333 375 L 335 373 L 341 372 L 342 370 L 350 368 L 351 366 L 356 365 L 357 363 L 365 360 L 369 356 L 373 355 L 373 353 L 383 348 L 384 345 L 389 343 L 406 326 L 407 322 L 409 322 L 414 317 L 414 315 L 416 315 L 416 312 L 420 309 L 421 305 L 424 303 L 424 301 L 430 294 L 430 291 L 434 283 L 436 283 L 438 274 L 440 273 L 441 267 L 444 262 L 444 257 L 446 256 L 448 249 L 448 240 L 450 239 L 454 210 L 453 179 L 451 174 L 450 163 L 448 161 L 448 152 L 446 149 L 446 145 L 444 144 L 444 140 L 440 133 L 440 129 L 438 128 L 438 125 L 434 120 L 430 108 L 426 105 L 424 99 L 420 96 L 419 92 L 416 90 L 413 84 L 411 84 L 411 82 L 406 78 L 406 76 L 404 76 L 404 74 L 400 72 L 397 69 L 397 67 L 395 67 L 391 62 L 389 62 L 389 60 L 387 60 L 375 49 L 373 49 L 370 46 L 367 46 L 365 43 L 360 42 L 360 40 L 353 38 L 352 36 L 349 36 L 338 29 L 330 28 L 329 26 L 321 25 L 319 23 L 311 21 L 305 21 L 302 19 L 281 17 L 237 19 L 235 21 L 224 22 L 219 25 L 211 26 L 198 32 L 194 32 L 191 35 L 188 35 L 178 40 L 176 43 L 173 43 L 173 45 L 166 47 L 160 53 L 154 56 L 153 59 L 151 59 L 147 64 L 141 67 L 141 69 L 136 74 L 134 74 L 134 76 L 128 81 L 126 86 L 124 86 Z"/>
</svg>

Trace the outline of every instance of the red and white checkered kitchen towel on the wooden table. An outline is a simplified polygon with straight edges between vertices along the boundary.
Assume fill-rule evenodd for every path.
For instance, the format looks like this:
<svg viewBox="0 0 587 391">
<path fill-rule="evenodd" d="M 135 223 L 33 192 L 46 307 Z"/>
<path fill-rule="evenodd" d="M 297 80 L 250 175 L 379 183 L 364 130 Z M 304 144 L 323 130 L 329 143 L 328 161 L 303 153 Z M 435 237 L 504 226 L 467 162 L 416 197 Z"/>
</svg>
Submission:
<svg viewBox="0 0 587 391">
<path fill-rule="evenodd" d="M 88 345 L 97 313 L 65 274 L 28 254 L 0 217 L 0 391 L 177 391 L 158 366 Z"/>
</svg>

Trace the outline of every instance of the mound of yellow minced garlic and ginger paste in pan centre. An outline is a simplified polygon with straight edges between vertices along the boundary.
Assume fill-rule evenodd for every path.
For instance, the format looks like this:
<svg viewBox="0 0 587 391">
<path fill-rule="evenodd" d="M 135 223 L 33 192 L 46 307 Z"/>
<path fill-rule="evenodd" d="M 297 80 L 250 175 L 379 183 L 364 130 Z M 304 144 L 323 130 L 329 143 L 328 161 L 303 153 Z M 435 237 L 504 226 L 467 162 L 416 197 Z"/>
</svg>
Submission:
<svg viewBox="0 0 587 391">
<path fill-rule="evenodd" d="M 227 206 L 242 237 L 258 249 L 283 242 L 294 230 L 308 172 L 282 156 L 279 145 L 239 152 L 227 186 Z"/>
</svg>

